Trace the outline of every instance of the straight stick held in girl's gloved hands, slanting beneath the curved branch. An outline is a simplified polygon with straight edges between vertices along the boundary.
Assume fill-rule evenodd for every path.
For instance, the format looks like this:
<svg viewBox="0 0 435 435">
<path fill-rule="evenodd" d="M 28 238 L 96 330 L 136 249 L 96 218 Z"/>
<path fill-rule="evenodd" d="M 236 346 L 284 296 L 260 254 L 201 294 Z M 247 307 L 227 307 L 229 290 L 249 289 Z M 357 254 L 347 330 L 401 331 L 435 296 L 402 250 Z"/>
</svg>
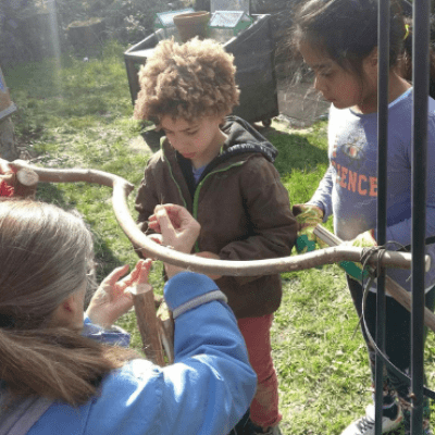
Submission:
<svg viewBox="0 0 435 435">
<path fill-rule="evenodd" d="M 313 234 L 330 246 L 337 246 L 343 243 L 341 239 L 339 239 L 335 234 L 328 232 L 322 225 L 316 225 Z M 407 291 L 389 276 L 385 276 L 385 288 L 395 300 L 397 300 L 409 312 L 411 312 L 412 295 L 409 291 Z M 424 324 L 435 332 L 435 314 L 426 307 L 424 309 Z"/>
</svg>

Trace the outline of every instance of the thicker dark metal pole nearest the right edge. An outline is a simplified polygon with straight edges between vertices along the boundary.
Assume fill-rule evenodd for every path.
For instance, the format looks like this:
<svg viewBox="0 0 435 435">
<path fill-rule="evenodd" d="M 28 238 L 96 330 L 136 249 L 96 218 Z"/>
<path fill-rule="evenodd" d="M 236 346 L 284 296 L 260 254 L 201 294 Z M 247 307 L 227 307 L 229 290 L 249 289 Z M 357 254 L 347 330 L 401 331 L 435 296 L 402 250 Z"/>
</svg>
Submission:
<svg viewBox="0 0 435 435">
<path fill-rule="evenodd" d="M 424 239 L 426 229 L 426 151 L 427 151 L 427 95 L 428 95 L 428 0 L 413 2 L 414 38 L 413 65 L 413 148 L 412 148 L 412 313 L 411 313 L 411 435 L 423 430 L 423 376 L 424 376 Z"/>
</svg>

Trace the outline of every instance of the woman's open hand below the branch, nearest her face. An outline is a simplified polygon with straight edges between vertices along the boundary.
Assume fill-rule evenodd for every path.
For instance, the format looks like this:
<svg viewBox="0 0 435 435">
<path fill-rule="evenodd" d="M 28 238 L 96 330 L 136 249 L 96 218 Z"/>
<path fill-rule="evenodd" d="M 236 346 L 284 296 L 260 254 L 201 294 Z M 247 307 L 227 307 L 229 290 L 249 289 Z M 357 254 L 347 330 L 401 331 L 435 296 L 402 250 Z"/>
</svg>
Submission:
<svg viewBox="0 0 435 435">
<path fill-rule="evenodd" d="M 109 330 L 122 314 L 133 307 L 132 287 L 148 283 L 151 260 L 139 260 L 133 272 L 121 279 L 128 272 L 128 264 L 116 268 L 98 287 L 86 311 L 90 321 Z"/>
</svg>

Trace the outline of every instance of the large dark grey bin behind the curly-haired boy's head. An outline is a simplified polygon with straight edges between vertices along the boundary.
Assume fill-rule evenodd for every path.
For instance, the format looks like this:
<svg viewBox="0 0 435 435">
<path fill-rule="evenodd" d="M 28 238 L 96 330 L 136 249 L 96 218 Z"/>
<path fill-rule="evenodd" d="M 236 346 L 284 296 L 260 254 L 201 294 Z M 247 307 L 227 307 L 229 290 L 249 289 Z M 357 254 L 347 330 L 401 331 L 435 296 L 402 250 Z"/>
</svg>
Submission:
<svg viewBox="0 0 435 435">
<path fill-rule="evenodd" d="M 272 117 L 279 114 L 271 15 L 253 17 L 252 25 L 223 46 L 227 52 L 234 54 L 237 67 L 236 83 L 240 89 L 240 105 L 234 108 L 233 114 L 251 123 L 261 121 L 268 126 Z M 124 53 L 133 104 L 140 90 L 137 73 L 162 39 L 160 32 L 151 34 Z"/>
</svg>

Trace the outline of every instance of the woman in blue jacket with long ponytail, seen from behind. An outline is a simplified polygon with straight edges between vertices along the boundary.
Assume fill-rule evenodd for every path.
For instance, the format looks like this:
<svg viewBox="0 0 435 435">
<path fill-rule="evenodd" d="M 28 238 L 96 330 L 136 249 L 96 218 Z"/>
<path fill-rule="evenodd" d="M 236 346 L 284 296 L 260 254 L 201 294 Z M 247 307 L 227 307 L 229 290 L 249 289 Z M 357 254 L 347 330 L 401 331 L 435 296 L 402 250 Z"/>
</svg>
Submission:
<svg viewBox="0 0 435 435">
<path fill-rule="evenodd" d="M 177 209 L 179 213 L 187 213 Z M 199 225 L 157 220 L 165 244 L 190 250 Z M 0 433 L 227 434 L 256 390 L 244 339 L 225 296 L 204 275 L 166 265 L 164 296 L 175 313 L 175 362 L 80 335 L 92 260 L 90 233 L 51 204 L 0 203 Z M 111 324 L 147 283 L 149 260 L 123 279 L 108 276 L 87 310 L 85 335 L 116 341 Z M 125 340 L 125 334 L 119 338 Z M 3 432 L 2 432 L 3 431 Z"/>
</svg>

